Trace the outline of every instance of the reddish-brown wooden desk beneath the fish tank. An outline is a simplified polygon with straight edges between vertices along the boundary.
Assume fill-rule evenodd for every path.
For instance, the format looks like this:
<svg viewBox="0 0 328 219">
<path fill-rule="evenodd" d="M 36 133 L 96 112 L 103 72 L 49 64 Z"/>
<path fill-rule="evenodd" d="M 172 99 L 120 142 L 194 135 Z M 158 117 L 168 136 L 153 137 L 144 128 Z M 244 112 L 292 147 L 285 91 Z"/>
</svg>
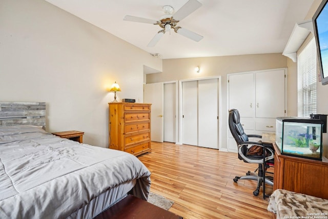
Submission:
<svg viewBox="0 0 328 219">
<path fill-rule="evenodd" d="M 328 198 L 328 162 L 282 155 L 275 149 L 273 189 L 285 189 L 321 198 Z"/>
</svg>

